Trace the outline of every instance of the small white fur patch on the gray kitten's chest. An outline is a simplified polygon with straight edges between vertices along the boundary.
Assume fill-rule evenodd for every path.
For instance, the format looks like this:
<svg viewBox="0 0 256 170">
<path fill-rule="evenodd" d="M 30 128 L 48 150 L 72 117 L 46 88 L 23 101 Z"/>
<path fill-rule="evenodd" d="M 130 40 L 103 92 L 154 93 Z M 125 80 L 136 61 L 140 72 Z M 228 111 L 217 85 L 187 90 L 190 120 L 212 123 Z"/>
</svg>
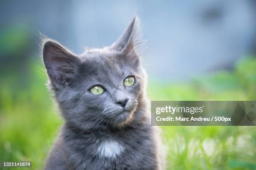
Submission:
<svg viewBox="0 0 256 170">
<path fill-rule="evenodd" d="M 98 153 L 102 157 L 115 158 L 124 150 L 123 146 L 116 140 L 104 140 L 97 148 Z"/>
</svg>

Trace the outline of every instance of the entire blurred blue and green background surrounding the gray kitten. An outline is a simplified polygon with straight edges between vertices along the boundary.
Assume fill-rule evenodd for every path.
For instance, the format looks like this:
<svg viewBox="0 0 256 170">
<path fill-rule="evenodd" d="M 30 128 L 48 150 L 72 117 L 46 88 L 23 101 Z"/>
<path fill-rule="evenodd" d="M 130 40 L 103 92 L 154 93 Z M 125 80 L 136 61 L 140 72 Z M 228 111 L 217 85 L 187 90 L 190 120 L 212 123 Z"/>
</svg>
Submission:
<svg viewBox="0 0 256 170">
<path fill-rule="evenodd" d="M 151 100 L 256 100 L 254 0 L 1 0 L 0 161 L 42 169 L 62 124 L 39 31 L 82 53 L 112 44 L 135 14 Z M 167 169 L 256 169 L 255 127 L 161 128 Z"/>
</svg>

